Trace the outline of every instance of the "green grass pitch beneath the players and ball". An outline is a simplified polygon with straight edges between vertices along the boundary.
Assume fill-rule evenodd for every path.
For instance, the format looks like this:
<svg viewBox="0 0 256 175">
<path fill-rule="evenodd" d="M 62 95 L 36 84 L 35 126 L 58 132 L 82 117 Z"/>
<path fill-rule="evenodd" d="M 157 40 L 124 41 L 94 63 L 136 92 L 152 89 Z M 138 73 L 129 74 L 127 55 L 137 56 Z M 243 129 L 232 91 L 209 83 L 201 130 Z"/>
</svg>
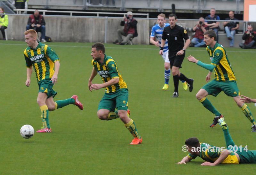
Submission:
<svg viewBox="0 0 256 175">
<path fill-rule="evenodd" d="M 104 89 L 88 90 L 91 45 L 49 43 L 61 60 L 54 99 L 76 94 L 84 110 L 69 105 L 50 112 L 52 133 L 35 133 L 27 140 L 20 136 L 20 127 L 29 124 L 36 131 L 42 125 L 36 76 L 33 72 L 31 85 L 26 87 L 25 42 L 0 41 L 0 174 L 245 174 L 256 170 L 254 164 L 201 166 L 204 160 L 200 157 L 188 164 L 175 164 L 188 154 L 181 147 L 189 137 L 226 145 L 221 128 L 209 127 L 213 115 L 195 97 L 206 83 L 208 71 L 185 58 L 181 72 L 194 79 L 194 90 L 184 91 L 180 84 L 179 98 L 171 98 L 172 77 L 169 89 L 163 91 L 164 61 L 155 46 L 106 44 L 106 54 L 115 59 L 128 85 L 130 117 L 143 138 L 142 144 L 129 145 L 132 136 L 120 119 L 102 121 L 97 117 Z M 255 50 L 227 48 L 227 53 L 241 94 L 256 98 Z M 188 55 L 210 63 L 205 48 L 189 48 Z M 101 83 L 100 76 L 93 82 Z M 251 132 L 251 123 L 233 99 L 223 92 L 208 99 L 225 116 L 236 145 L 256 150 L 256 133 Z M 248 106 L 256 117 L 254 104 Z"/>
</svg>

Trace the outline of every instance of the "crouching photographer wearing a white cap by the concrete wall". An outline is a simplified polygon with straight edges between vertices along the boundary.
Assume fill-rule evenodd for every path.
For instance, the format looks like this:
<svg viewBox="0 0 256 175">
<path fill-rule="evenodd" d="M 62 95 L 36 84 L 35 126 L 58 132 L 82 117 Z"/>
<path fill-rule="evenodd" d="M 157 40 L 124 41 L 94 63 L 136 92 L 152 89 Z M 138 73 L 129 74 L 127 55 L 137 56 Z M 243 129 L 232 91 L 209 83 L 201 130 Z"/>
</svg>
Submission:
<svg viewBox="0 0 256 175">
<path fill-rule="evenodd" d="M 137 23 L 137 20 L 132 18 L 132 11 L 128 11 L 127 15 L 124 15 L 120 24 L 121 26 L 124 26 L 124 29 L 117 30 L 118 40 L 113 43 L 125 45 L 131 38 L 138 36 Z M 122 39 L 122 35 L 125 36 L 124 40 Z"/>
</svg>

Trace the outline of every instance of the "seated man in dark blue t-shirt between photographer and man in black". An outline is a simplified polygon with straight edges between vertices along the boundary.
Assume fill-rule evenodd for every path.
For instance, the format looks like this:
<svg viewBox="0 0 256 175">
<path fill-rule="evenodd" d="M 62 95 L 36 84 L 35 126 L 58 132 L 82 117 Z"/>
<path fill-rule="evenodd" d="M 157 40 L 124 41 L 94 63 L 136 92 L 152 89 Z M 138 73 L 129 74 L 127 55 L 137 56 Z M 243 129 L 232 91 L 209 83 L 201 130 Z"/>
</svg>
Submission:
<svg viewBox="0 0 256 175">
<path fill-rule="evenodd" d="M 219 35 L 218 35 L 218 31 L 220 29 L 220 22 L 219 21 L 207 21 L 207 19 L 211 19 L 211 20 L 220 20 L 220 17 L 218 15 L 215 15 L 216 10 L 215 8 L 211 8 L 210 10 L 210 15 L 205 17 L 205 24 L 209 27 L 209 29 L 212 29 L 215 31 L 216 35 L 217 35 L 217 42 L 219 41 Z"/>
</svg>

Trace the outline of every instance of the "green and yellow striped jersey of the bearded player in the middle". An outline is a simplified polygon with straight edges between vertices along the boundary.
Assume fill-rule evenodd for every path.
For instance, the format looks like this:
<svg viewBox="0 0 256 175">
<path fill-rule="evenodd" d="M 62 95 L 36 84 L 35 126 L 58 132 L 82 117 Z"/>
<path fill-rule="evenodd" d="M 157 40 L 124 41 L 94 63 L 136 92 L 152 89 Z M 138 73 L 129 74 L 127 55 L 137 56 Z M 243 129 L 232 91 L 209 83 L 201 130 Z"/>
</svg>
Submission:
<svg viewBox="0 0 256 175">
<path fill-rule="evenodd" d="M 104 62 L 102 64 L 92 59 L 92 65 L 101 76 L 103 83 L 113 78 L 119 78 L 119 83 L 106 87 L 106 93 L 116 92 L 118 89 L 121 88 L 127 88 L 127 85 L 124 82 L 122 75 L 118 72 L 116 62 L 113 60 L 112 57 L 108 57 L 105 54 Z"/>
</svg>

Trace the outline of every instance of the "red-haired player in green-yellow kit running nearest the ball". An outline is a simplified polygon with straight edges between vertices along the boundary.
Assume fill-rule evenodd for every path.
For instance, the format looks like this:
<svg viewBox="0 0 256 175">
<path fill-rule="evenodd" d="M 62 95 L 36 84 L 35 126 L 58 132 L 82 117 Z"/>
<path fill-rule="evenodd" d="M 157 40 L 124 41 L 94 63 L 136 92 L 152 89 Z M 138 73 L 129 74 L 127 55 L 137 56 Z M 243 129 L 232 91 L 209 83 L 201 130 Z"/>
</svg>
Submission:
<svg viewBox="0 0 256 175">
<path fill-rule="evenodd" d="M 35 30 L 27 30 L 24 34 L 28 45 L 28 48 L 24 50 L 27 67 L 27 80 L 25 84 L 29 87 L 33 66 L 39 87 L 37 103 L 42 112 L 41 118 L 43 127 L 36 132 L 51 133 L 52 129 L 50 127 L 48 117 L 49 111 L 62 108 L 68 104 L 74 104 L 80 110 L 83 110 L 83 104 L 79 102 L 77 95 L 73 95 L 71 98 L 66 100 L 53 101 L 53 97 L 57 92 L 55 92 L 52 87 L 57 83 L 60 59 L 48 45 L 37 42 L 37 33 Z M 53 70 L 53 67 L 55 67 L 55 71 Z"/>
</svg>

